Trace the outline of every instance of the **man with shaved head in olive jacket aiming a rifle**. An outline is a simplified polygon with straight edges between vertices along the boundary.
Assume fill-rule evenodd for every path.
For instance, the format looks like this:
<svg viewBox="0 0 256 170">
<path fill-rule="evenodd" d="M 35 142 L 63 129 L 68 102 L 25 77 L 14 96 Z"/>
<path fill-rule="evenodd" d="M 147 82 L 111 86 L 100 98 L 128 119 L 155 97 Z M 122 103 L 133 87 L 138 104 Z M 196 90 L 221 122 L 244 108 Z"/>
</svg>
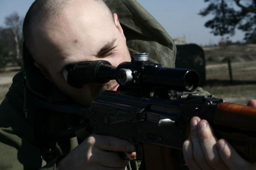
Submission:
<svg viewBox="0 0 256 170">
<path fill-rule="evenodd" d="M 146 34 L 145 30 L 141 30 Z M 77 117 L 52 113 L 51 110 L 38 109 L 36 106 L 38 100 L 44 100 L 53 104 L 78 103 L 89 107 L 101 91 L 117 89 L 116 81 L 106 84 L 90 82 L 82 88 L 74 88 L 63 77 L 63 69 L 73 63 L 106 60 L 117 66 L 121 62 L 131 61 L 117 14 L 112 15 L 101 0 L 35 1 L 25 17 L 23 33 L 24 72 L 14 77 L 0 108 L 0 169 L 126 169 L 129 161 L 121 158 L 119 153 L 135 152 L 133 143 L 96 134 L 84 140 L 77 137 L 48 140 L 46 136 L 54 132 L 72 129 Z M 135 41 L 141 43 L 139 39 Z M 155 43 L 150 39 L 147 41 Z M 173 51 L 175 54 L 175 47 Z M 227 163 L 230 160 L 223 159 L 228 154 L 226 150 L 220 152 L 221 157 L 216 157 L 219 155 L 216 147 L 211 152 L 199 151 L 204 158 L 213 155 L 212 159 L 193 156 L 198 154 L 193 151 L 193 144 L 194 147 L 200 144 L 200 141 L 194 140 L 200 136 L 195 130 L 206 129 L 211 146 L 216 145 L 217 141 L 212 139 L 214 136 L 207 122 L 199 118 L 192 121 L 191 133 L 194 136 L 184 143 L 189 167 L 230 168 Z M 203 127 L 205 124 L 206 128 Z M 223 142 L 218 145 L 223 148 L 221 144 Z M 224 149 L 230 148 L 224 145 Z M 206 150 L 210 148 L 206 146 Z M 231 158 L 232 161 L 238 157 L 231 155 Z M 245 164 L 249 165 L 246 161 L 241 165 Z M 127 167 L 131 168 L 131 165 Z"/>
</svg>

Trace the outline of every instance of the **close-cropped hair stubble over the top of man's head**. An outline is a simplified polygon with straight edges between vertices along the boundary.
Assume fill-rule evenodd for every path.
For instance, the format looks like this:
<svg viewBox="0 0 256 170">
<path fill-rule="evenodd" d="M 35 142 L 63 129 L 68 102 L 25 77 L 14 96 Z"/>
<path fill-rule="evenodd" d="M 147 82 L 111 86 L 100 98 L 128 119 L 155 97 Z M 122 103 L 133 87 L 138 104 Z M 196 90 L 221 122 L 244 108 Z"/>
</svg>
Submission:
<svg viewBox="0 0 256 170">
<path fill-rule="evenodd" d="M 41 59 L 38 57 L 38 49 L 35 47 L 35 43 L 38 41 L 35 34 L 40 34 L 40 28 L 43 28 L 49 21 L 58 19 L 63 10 L 76 1 L 77 0 L 36 0 L 29 8 L 23 24 L 24 41 L 30 54 L 40 66 L 44 67 L 44 65 L 41 64 Z M 86 4 L 91 1 L 96 2 L 99 7 L 102 8 L 102 12 L 106 12 L 106 16 L 111 17 L 113 20 L 110 9 L 102 0 L 83 0 L 82 3 Z"/>
</svg>

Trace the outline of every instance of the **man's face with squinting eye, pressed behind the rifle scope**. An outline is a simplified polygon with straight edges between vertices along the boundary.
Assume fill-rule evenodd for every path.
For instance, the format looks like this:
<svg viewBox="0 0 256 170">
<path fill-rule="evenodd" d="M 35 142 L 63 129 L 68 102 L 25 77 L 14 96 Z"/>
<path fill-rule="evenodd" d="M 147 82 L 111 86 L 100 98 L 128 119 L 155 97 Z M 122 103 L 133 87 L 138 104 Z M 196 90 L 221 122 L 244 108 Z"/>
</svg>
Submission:
<svg viewBox="0 0 256 170">
<path fill-rule="evenodd" d="M 65 81 L 63 69 L 71 63 L 92 60 L 117 66 L 131 58 L 116 16 L 114 22 L 94 1 L 74 2 L 41 28 L 38 36 L 42 40 L 37 41 L 36 49 L 53 83 L 78 103 L 89 106 L 100 91 L 116 90 L 116 81 L 104 85 L 90 82 L 77 89 Z"/>
</svg>

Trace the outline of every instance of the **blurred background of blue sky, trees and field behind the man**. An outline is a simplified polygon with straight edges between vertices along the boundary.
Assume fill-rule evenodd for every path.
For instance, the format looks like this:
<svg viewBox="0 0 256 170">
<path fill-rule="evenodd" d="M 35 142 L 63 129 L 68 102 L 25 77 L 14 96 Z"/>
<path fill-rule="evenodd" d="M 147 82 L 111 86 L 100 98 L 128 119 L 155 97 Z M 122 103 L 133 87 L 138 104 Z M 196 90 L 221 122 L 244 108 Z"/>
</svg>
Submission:
<svg viewBox="0 0 256 170">
<path fill-rule="evenodd" d="M 137 0 L 174 39 L 176 67 L 226 102 L 256 99 L 256 1 Z M 22 24 L 33 0 L 0 1 L 0 102 L 22 69 Z"/>
</svg>

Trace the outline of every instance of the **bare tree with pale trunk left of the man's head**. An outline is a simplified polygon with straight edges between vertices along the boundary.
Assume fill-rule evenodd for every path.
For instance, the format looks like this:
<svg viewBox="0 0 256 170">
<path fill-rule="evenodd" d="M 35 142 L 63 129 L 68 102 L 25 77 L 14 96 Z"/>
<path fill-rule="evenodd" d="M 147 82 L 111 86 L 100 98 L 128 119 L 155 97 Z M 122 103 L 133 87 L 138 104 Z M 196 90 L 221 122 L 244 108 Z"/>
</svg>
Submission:
<svg viewBox="0 0 256 170">
<path fill-rule="evenodd" d="M 20 53 L 20 44 L 22 43 L 23 35 L 22 35 L 22 25 L 23 19 L 19 17 L 19 15 L 14 12 L 11 15 L 5 18 L 6 27 L 9 28 L 13 34 L 13 39 L 15 41 L 15 62 L 22 66 L 22 55 Z"/>
</svg>

